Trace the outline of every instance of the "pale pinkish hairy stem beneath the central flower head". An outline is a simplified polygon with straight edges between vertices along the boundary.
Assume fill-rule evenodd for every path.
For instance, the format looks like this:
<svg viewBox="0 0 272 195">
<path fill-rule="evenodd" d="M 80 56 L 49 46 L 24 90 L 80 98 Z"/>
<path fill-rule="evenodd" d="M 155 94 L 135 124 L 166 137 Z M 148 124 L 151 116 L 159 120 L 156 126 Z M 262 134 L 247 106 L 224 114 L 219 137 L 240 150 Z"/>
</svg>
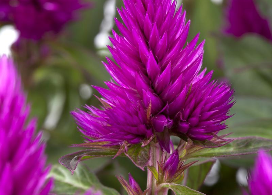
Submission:
<svg viewBox="0 0 272 195">
<path fill-rule="evenodd" d="M 161 147 L 159 144 L 152 143 L 151 144 L 151 155 L 150 161 L 148 163 L 149 166 L 154 166 L 158 170 L 157 161 L 161 161 L 163 156 L 163 152 L 161 151 Z M 168 189 L 161 188 L 157 185 L 157 181 L 153 176 L 153 173 L 147 169 L 147 188 L 150 188 L 149 195 L 167 195 Z"/>
</svg>

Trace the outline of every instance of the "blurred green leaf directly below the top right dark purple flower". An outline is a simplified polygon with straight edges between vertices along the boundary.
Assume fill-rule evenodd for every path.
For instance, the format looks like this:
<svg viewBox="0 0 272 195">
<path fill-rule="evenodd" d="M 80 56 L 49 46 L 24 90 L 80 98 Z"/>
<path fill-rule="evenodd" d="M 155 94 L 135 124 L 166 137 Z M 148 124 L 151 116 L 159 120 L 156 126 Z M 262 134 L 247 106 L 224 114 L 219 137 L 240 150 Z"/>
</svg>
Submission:
<svg viewBox="0 0 272 195">
<path fill-rule="evenodd" d="M 271 98 L 270 41 L 261 36 L 221 39 L 225 73 L 236 94 Z"/>
</svg>

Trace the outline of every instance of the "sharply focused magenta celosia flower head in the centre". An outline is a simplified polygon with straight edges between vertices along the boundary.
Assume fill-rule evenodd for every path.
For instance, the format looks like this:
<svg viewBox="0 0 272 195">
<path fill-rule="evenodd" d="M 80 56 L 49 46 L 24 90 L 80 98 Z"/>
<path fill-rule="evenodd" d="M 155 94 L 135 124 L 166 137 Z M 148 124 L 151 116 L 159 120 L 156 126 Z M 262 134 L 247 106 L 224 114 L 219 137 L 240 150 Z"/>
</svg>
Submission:
<svg viewBox="0 0 272 195">
<path fill-rule="evenodd" d="M 226 128 L 233 91 L 201 70 L 204 42 L 186 44 L 190 21 L 171 0 L 124 0 L 123 24 L 104 63 L 114 82 L 95 87 L 104 108 L 72 112 L 89 141 L 140 143 L 156 137 L 170 152 L 170 135 L 207 140 Z"/>
</svg>

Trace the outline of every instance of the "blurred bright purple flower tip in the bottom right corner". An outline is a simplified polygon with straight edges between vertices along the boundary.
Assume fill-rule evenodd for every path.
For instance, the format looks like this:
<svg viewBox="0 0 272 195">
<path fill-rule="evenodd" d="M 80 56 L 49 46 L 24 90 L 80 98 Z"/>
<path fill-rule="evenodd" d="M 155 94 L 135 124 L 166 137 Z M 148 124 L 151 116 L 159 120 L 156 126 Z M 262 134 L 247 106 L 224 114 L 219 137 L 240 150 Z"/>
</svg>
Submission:
<svg viewBox="0 0 272 195">
<path fill-rule="evenodd" d="M 249 174 L 250 195 L 270 195 L 272 193 L 272 158 L 263 150 L 255 161 L 255 166 Z"/>
</svg>

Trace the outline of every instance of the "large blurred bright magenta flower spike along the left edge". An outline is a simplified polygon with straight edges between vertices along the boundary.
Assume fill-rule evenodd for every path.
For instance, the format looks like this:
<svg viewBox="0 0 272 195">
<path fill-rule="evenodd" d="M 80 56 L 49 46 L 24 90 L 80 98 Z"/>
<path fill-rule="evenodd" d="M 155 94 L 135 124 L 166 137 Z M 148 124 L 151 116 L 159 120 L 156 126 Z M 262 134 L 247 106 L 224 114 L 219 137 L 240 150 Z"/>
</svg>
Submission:
<svg viewBox="0 0 272 195">
<path fill-rule="evenodd" d="M 0 58 L 0 194 L 47 195 L 53 180 L 46 181 L 45 144 L 34 135 L 36 121 L 27 123 L 21 81 L 11 59 Z"/>
</svg>

